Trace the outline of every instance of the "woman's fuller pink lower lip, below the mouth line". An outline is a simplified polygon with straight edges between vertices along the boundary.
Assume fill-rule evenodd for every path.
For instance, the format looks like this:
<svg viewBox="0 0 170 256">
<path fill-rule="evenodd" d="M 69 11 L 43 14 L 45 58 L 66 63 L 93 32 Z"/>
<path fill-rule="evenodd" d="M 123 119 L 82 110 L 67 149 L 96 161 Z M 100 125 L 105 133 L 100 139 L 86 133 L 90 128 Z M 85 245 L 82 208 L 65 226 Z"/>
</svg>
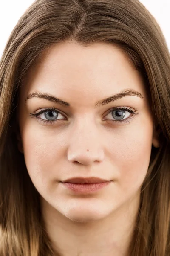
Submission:
<svg viewBox="0 0 170 256">
<path fill-rule="evenodd" d="M 93 184 L 75 184 L 75 183 L 68 183 L 62 182 L 64 186 L 68 189 L 71 189 L 74 192 L 78 193 L 91 193 L 102 189 L 103 187 L 107 186 L 111 181 L 102 182 L 102 183 L 93 183 Z"/>
</svg>

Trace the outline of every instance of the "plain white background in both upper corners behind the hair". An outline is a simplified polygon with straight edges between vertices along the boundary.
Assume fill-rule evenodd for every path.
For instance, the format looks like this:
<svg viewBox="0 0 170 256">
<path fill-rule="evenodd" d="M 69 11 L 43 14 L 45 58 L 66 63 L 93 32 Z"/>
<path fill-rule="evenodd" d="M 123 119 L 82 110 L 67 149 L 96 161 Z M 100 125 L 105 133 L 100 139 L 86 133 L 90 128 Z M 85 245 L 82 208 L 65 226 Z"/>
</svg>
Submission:
<svg viewBox="0 0 170 256">
<path fill-rule="evenodd" d="M 140 0 L 156 18 L 170 50 L 170 0 Z M 20 16 L 34 0 L 0 0 L 0 58 L 8 37 Z"/>
</svg>

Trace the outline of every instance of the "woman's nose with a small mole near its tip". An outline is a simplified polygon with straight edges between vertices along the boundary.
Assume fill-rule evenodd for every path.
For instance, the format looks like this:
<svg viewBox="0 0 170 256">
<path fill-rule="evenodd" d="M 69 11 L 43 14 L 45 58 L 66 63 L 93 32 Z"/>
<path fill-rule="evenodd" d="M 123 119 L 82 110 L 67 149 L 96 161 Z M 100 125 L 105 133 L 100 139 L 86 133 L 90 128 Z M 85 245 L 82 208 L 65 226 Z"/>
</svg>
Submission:
<svg viewBox="0 0 170 256">
<path fill-rule="evenodd" d="M 104 159 L 101 134 L 93 121 L 88 118 L 77 121 L 72 127 L 68 148 L 68 160 L 85 165 Z"/>
</svg>

